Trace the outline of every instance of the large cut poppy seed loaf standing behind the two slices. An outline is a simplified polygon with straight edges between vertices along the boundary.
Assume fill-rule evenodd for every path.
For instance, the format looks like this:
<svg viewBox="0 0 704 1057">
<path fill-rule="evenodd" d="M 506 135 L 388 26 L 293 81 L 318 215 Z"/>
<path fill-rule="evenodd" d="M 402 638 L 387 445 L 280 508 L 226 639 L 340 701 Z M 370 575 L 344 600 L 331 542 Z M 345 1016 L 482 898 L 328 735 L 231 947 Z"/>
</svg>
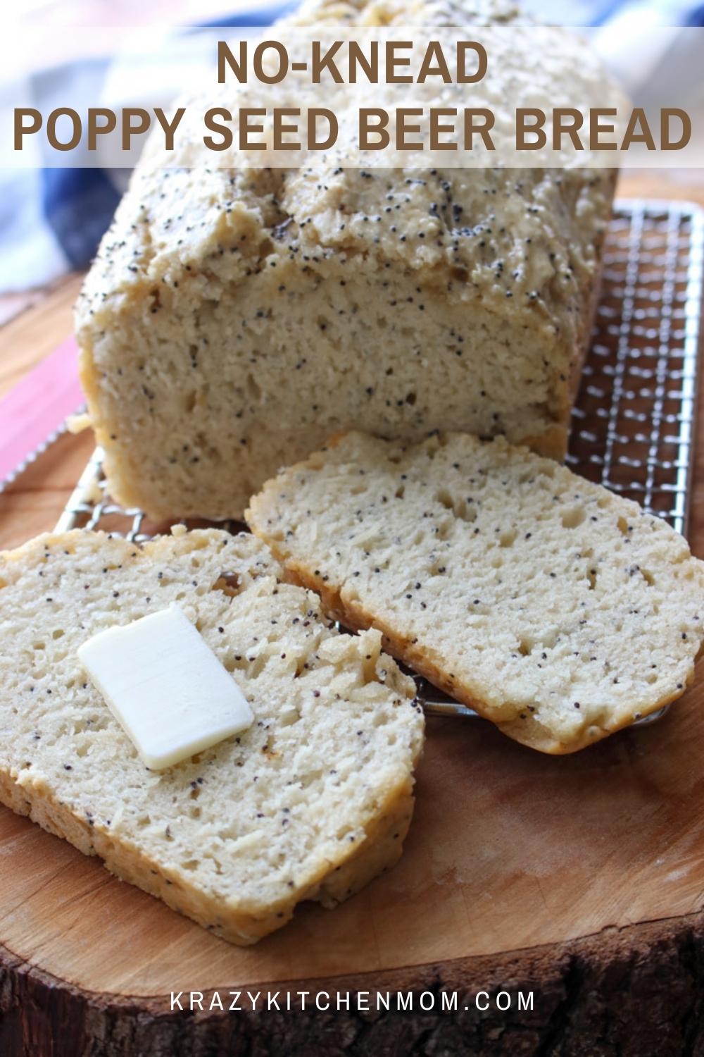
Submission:
<svg viewBox="0 0 704 1057">
<path fill-rule="evenodd" d="M 516 17 L 492 0 L 360 0 L 307 3 L 298 21 Z M 566 48 L 570 78 L 589 52 Z M 495 92 L 507 76 L 490 63 Z M 147 152 L 77 305 L 117 499 L 239 517 L 344 428 L 506 434 L 562 458 L 614 170 L 192 169 L 193 148 L 178 141 L 168 169 Z"/>
</svg>

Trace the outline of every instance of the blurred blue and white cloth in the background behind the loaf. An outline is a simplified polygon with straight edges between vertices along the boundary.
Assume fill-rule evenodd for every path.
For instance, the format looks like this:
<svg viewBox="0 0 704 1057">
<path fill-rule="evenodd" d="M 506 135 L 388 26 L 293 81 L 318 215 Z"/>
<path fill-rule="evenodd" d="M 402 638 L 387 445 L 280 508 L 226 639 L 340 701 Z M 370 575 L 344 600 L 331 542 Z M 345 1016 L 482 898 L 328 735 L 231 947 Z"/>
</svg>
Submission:
<svg viewBox="0 0 704 1057">
<path fill-rule="evenodd" d="M 266 3 L 266 0 L 264 0 Z M 218 19 L 217 25 L 267 25 L 294 3 L 253 8 L 248 15 Z M 597 27 L 592 40 L 607 63 L 621 76 L 631 97 L 647 94 L 647 86 L 665 73 L 672 79 L 671 95 L 680 106 L 701 106 L 701 58 L 699 62 L 672 61 L 678 47 L 678 26 L 704 25 L 704 3 L 677 0 L 528 0 L 526 6 L 546 24 Z M 659 54 L 650 55 L 647 68 L 638 54 L 634 38 L 643 29 L 669 26 L 662 34 Z M 158 72 L 159 100 L 167 104 L 183 84 L 178 40 L 174 31 L 164 52 Z M 659 35 L 659 40 L 661 36 Z M 174 52 L 175 49 L 175 52 Z M 631 59 L 629 64 L 629 57 Z M 666 64 L 665 64 L 666 63 Z M 677 80 L 680 71 L 693 69 L 697 86 Z M 66 98 L 100 99 L 118 108 L 134 105 L 134 71 L 119 70 L 108 59 L 89 59 L 34 73 L 23 87 L 26 105 L 42 111 L 65 106 Z M 60 100 L 60 104 L 59 104 Z M 40 164 L 40 162 L 39 162 Z M 42 285 L 72 268 L 85 267 L 108 228 L 125 190 L 129 170 L 101 168 L 41 168 L 0 170 L 0 293 Z"/>
</svg>

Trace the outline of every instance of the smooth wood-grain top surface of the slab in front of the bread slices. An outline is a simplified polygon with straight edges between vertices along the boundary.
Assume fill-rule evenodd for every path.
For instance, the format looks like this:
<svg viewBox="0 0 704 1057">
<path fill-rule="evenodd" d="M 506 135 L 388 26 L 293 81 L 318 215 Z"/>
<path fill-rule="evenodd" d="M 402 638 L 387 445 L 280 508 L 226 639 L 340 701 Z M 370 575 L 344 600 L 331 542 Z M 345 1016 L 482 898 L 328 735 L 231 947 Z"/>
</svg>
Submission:
<svg viewBox="0 0 704 1057">
<path fill-rule="evenodd" d="M 334 912 L 301 907 L 249 948 L 217 940 L 2 812 L 1 939 L 90 990 L 149 997 L 377 973 L 562 943 L 697 911 L 703 688 L 660 725 L 543 757 L 435 719 L 401 863 Z"/>
</svg>

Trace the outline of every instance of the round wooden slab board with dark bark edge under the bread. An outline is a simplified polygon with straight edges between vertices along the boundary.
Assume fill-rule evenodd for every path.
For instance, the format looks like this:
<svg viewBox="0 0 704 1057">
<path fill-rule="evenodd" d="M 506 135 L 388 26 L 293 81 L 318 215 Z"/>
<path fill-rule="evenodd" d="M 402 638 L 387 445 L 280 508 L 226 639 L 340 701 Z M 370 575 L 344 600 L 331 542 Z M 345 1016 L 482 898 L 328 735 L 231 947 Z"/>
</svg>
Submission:
<svg viewBox="0 0 704 1057">
<path fill-rule="evenodd" d="M 57 344 L 73 294 L 69 282 L 6 327 L 3 357 Z M 90 449 L 62 439 L 0 495 L 0 546 L 52 527 Z M 700 439 L 689 535 L 701 556 L 703 469 Z M 576 756 L 540 756 L 480 721 L 431 720 L 427 736 L 401 863 L 247 949 L 0 809 L 0 1054 L 696 1052 L 702 676 L 663 721 Z M 201 991 L 207 1010 L 213 991 L 227 1003 L 278 990 L 281 1003 L 287 990 L 396 988 L 456 990 L 458 1006 L 191 1016 L 169 1001 Z"/>
</svg>

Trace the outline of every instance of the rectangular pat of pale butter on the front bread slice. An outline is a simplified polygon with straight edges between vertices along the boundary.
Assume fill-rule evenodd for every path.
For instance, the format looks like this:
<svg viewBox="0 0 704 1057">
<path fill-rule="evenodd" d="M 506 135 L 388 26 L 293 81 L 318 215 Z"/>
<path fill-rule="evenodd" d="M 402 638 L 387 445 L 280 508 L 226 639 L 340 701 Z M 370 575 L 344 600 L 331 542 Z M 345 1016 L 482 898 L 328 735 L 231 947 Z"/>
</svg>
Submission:
<svg viewBox="0 0 704 1057">
<path fill-rule="evenodd" d="M 99 631 L 79 647 L 78 657 L 154 771 L 254 720 L 242 690 L 178 606 Z"/>
</svg>

